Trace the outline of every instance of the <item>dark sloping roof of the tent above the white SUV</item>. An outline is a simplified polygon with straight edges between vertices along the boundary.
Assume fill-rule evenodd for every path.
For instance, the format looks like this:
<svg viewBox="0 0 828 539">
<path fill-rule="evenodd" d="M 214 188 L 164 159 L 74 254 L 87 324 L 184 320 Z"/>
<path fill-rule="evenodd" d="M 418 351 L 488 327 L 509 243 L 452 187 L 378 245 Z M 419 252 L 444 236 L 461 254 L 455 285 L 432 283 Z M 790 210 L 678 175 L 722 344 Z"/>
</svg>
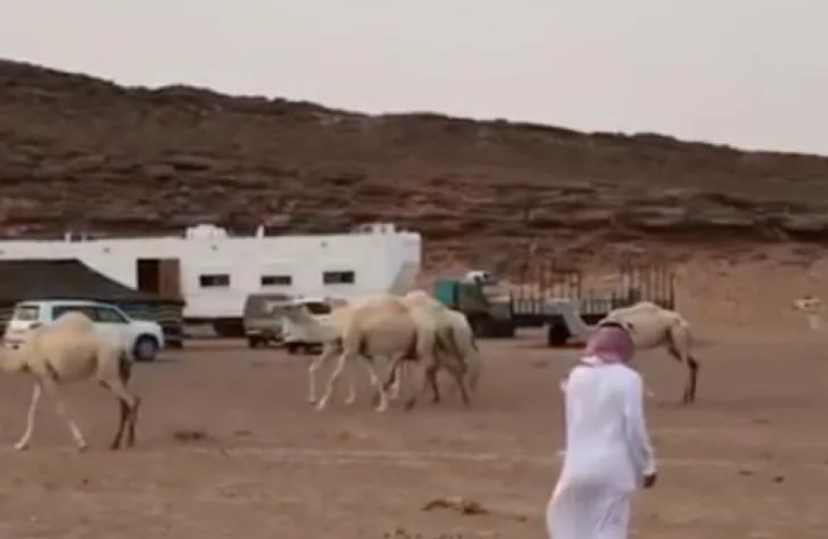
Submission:
<svg viewBox="0 0 828 539">
<path fill-rule="evenodd" d="M 0 260 L 0 302 L 26 300 L 176 303 L 133 290 L 76 258 Z"/>
</svg>

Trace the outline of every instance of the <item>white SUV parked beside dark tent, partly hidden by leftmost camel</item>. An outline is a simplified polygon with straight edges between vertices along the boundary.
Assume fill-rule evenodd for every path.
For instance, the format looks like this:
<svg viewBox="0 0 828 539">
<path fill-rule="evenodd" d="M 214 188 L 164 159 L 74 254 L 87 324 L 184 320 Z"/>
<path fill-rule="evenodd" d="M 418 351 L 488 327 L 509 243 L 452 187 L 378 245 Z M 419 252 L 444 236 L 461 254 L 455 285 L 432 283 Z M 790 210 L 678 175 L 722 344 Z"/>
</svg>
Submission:
<svg viewBox="0 0 828 539">
<path fill-rule="evenodd" d="M 14 307 L 3 341 L 17 349 L 29 330 L 50 325 L 67 310 L 79 310 L 89 316 L 96 331 L 111 335 L 137 361 L 155 361 L 164 347 L 164 332 L 157 322 L 134 320 L 116 306 L 83 300 L 21 301 Z"/>
</svg>

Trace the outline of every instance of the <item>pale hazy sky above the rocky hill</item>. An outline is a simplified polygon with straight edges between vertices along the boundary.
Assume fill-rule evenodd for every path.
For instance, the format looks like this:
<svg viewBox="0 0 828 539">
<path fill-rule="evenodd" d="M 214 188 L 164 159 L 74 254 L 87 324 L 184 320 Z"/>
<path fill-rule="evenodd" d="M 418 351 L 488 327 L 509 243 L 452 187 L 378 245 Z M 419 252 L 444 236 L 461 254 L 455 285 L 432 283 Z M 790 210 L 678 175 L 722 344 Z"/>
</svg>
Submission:
<svg viewBox="0 0 828 539">
<path fill-rule="evenodd" d="M 10 0 L 0 56 L 368 113 L 828 155 L 821 0 Z"/>
</svg>

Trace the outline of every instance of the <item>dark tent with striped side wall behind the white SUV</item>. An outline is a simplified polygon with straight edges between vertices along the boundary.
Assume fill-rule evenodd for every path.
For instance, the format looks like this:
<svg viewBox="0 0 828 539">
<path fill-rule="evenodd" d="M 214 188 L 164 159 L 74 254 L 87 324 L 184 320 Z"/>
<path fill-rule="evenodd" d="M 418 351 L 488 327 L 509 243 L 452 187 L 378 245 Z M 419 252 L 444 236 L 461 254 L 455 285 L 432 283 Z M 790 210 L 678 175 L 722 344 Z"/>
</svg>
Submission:
<svg viewBox="0 0 828 539">
<path fill-rule="evenodd" d="M 0 334 L 18 301 L 87 300 L 118 306 L 132 318 L 154 320 L 168 346 L 181 345 L 184 302 L 133 290 L 76 259 L 0 260 Z"/>
</svg>

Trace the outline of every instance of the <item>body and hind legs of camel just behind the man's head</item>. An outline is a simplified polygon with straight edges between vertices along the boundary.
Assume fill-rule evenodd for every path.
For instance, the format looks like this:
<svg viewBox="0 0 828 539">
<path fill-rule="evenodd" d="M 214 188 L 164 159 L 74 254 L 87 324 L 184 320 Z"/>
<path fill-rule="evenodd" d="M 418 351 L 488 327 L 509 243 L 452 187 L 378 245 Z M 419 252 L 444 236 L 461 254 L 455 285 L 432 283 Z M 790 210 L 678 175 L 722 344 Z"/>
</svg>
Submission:
<svg viewBox="0 0 828 539">
<path fill-rule="evenodd" d="M 614 321 L 623 325 L 633 337 L 639 350 L 666 347 L 672 357 L 687 366 L 687 381 L 683 404 L 696 401 L 699 363 L 691 351 L 690 325 L 675 310 L 664 309 L 651 301 L 640 301 L 633 306 L 614 309 L 601 322 Z M 601 323 L 599 322 L 599 324 Z"/>
</svg>

